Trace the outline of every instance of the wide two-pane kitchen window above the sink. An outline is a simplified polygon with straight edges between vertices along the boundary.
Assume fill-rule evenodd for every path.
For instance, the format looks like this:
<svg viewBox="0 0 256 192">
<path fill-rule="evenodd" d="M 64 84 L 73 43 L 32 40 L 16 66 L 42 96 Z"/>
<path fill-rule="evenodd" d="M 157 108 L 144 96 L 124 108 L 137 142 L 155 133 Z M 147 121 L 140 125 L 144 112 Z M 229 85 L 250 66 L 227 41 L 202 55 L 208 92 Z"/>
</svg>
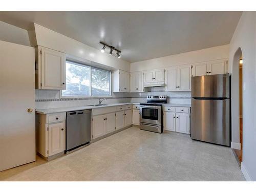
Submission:
<svg viewBox="0 0 256 192">
<path fill-rule="evenodd" d="M 66 90 L 61 96 L 111 96 L 111 71 L 67 60 Z"/>
</svg>

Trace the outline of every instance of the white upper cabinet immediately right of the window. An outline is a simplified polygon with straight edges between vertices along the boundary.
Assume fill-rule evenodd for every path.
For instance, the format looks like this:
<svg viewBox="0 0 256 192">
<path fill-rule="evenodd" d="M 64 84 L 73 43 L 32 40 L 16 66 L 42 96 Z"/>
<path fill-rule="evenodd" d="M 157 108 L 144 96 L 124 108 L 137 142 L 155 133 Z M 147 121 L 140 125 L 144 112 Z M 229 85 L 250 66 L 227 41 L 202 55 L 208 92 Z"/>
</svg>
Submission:
<svg viewBox="0 0 256 192">
<path fill-rule="evenodd" d="M 122 70 L 114 71 L 113 92 L 130 92 L 130 73 Z"/>
</svg>

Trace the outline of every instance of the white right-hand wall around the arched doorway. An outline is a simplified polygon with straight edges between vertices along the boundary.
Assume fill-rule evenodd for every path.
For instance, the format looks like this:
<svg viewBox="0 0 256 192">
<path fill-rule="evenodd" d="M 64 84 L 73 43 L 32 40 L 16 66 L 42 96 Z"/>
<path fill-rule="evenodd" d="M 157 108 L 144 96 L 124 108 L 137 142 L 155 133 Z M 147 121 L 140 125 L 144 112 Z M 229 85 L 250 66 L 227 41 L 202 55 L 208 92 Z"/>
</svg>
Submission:
<svg viewBox="0 0 256 192">
<path fill-rule="evenodd" d="M 256 181 L 256 12 L 243 12 L 230 41 L 229 67 L 232 72 L 232 123 L 238 118 L 234 113 L 239 105 L 238 63 L 233 64 L 234 54 L 241 48 L 243 54 L 243 162 L 246 180 Z M 236 72 L 236 73 L 233 73 Z M 234 84 L 236 83 L 236 84 Z M 232 124 L 232 142 L 238 141 L 239 125 Z M 236 139 L 236 140 L 235 140 Z"/>
</svg>

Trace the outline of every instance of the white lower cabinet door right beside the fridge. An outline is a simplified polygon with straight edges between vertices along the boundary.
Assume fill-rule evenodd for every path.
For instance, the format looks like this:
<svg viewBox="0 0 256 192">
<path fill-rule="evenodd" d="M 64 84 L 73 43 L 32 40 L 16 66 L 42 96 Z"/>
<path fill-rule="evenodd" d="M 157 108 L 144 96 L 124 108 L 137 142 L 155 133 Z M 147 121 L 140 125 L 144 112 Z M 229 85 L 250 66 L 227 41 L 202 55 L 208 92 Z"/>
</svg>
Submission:
<svg viewBox="0 0 256 192">
<path fill-rule="evenodd" d="M 189 134 L 190 114 L 176 113 L 176 132 Z"/>
</svg>

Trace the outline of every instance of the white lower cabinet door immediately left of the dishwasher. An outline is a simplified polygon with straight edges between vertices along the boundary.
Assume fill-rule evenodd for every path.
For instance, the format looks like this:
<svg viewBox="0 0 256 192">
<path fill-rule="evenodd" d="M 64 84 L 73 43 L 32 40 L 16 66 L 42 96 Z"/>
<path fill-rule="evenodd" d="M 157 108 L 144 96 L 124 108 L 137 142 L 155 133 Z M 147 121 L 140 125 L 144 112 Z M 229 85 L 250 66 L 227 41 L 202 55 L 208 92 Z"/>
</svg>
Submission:
<svg viewBox="0 0 256 192">
<path fill-rule="evenodd" d="M 65 151 L 66 129 L 65 122 L 48 125 L 48 156 Z"/>
</svg>

